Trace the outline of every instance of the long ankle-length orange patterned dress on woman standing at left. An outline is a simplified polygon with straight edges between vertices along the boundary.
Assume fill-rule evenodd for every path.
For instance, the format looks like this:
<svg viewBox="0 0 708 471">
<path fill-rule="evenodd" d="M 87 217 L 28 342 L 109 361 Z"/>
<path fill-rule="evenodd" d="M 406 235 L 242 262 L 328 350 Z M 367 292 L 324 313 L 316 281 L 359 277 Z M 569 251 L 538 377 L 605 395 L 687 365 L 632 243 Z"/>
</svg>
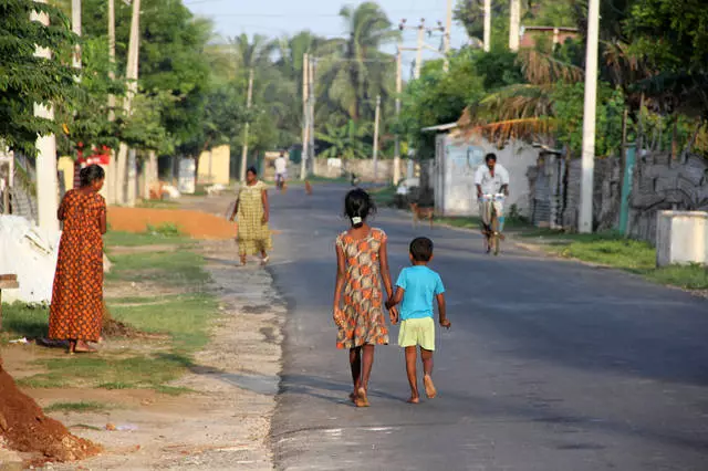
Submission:
<svg viewBox="0 0 708 471">
<path fill-rule="evenodd" d="M 106 203 L 98 193 L 70 190 L 62 200 L 64 231 L 49 314 L 49 336 L 96 342 L 103 324 L 103 238 Z"/>
</svg>

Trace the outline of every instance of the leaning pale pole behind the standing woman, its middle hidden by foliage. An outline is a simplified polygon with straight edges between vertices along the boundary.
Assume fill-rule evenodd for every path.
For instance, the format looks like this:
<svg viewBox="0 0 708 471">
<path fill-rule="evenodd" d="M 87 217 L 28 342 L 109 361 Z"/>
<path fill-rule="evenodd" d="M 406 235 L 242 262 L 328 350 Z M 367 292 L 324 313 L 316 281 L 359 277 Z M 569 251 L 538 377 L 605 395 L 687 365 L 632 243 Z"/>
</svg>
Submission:
<svg viewBox="0 0 708 471">
<path fill-rule="evenodd" d="M 137 55 L 139 51 L 140 41 L 140 0 L 133 0 L 133 18 L 131 19 L 131 38 L 128 40 L 128 60 L 125 70 L 125 78 L 127 80 L 127 93 L 123 100 L 123 111 L 125 117 L 131 116 L 131 105 L 133 96 L 137 93 Z M 121 143 L 118 148 L 118 161 L 116 166 L 116 202 L 126 202 L 126 185 L 125 179 L 127 176 L 127 157 L 128 147 L 125 143 Z"/>
</svg>

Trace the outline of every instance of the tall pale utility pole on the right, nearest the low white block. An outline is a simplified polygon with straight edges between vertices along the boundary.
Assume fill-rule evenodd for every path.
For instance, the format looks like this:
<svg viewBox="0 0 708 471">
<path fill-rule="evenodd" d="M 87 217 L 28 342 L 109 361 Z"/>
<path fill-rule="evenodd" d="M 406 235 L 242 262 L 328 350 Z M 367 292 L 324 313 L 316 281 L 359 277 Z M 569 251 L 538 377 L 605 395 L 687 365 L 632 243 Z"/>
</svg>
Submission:
<svg viewBox="0 0 708 471">
<path fill-rule="evenodd" d="M 587 50 L 585 53 L 585 108 L 583 113 L 583 154 L 577 231 L 593 231 L 593 185 L 595 171 L 595 113 L 597 100 L 597 41 L 600 0 L 587 6 Z"/>
</svg>

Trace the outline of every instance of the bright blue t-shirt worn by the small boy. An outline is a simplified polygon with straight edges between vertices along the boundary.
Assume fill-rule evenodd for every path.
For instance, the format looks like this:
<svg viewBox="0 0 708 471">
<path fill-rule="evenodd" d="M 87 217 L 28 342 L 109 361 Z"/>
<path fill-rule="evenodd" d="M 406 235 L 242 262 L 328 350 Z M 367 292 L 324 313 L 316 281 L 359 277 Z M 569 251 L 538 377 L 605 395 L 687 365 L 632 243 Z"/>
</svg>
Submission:
<svg viewBox="0 0 708 471">
<path fill-rule="evenodd" d="M 396 286 L 405 293 L 400 305 L 400 320 L 433 317 L 433 299 L 445 293 L 440 275 L 426 265 L 403 269 Z"/>
</svg>

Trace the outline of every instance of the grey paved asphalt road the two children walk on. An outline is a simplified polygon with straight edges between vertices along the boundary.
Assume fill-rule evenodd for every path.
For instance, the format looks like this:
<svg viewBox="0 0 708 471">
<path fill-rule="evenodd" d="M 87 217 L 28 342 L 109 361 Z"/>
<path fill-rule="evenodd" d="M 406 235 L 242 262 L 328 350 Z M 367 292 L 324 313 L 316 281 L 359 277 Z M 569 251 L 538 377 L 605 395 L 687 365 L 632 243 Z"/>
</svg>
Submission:
<svg viewBox="0 0 708 471">
<path fill-rule="evenodd" d="M 287 470 L 707 470 L 708 302 L 611 270 L 437 228 L 434 269 L 452 329 L 438 334 L 440 391 L 408 397 L 400 349 L 376 350 L 368 409 L 346 401 L 331 321 L 344 187 L 273 195 L 271 271 L 290 305 L 272 428 Z M 394 276 L 418 234 L 381 211 Z M 397 328 L 392 329 L 392 339 Z"/>
</svg>

